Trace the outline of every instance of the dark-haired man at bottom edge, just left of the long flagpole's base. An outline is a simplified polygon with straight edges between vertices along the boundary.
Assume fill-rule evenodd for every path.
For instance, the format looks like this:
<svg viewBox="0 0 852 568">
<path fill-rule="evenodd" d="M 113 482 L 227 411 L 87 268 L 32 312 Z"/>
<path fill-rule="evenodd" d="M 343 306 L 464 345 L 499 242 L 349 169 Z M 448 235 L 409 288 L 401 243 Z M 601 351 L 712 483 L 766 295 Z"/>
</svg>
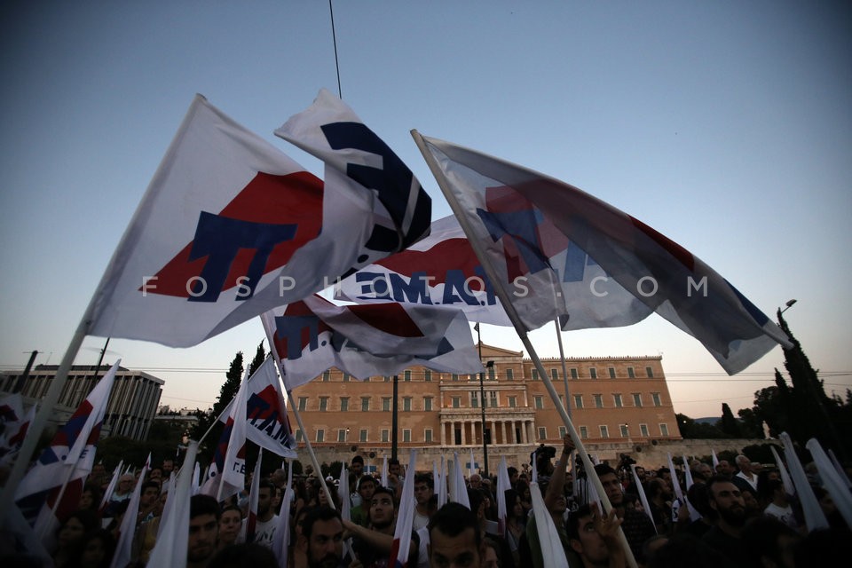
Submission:
<svg viewBox="0 0 852 568">
<path fill-rule="evenodd" d="M 619 539 L 622 519 L 615 509 L 602 515 L 597 503 L 582 505 L 568 517 L 571 548 L 584 568 L 625 568 L 627 555 Z"/>
</svg>

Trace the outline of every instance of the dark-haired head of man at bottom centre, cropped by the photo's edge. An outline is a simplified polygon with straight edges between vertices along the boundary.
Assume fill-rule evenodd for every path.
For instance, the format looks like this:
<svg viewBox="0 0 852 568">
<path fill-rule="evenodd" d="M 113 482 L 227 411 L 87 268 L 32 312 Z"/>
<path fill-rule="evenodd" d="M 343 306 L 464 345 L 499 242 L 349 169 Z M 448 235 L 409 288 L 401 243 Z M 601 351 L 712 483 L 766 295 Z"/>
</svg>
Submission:
<svg viewBox="0 0 852 568">
<path fill-rule="evenodd" d="M 429 521 L 429 565 L 432 568 L 473 568 L 483 564 L 485 542 L 476 515 L 449 502 Z"/>
</svg>

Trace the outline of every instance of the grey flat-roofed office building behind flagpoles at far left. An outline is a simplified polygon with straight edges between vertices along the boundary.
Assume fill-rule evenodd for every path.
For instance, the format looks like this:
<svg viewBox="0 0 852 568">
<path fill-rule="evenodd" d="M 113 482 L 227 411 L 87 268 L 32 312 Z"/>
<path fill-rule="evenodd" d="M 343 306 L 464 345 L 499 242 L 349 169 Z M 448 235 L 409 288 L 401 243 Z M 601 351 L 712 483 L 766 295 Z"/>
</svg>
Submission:
<svg viewBox="0 0 852 568">
<path fill-rule="evenodd" d="M 41 401 L 47 395 L 58 368 L 58 365 L 37 365 L 30 371 L 23 389 L 20 390 L 25 407 Z M 68 381 L 59 394 L 59 402 L 48 422 L 49 430 L 54 431 L 67 422 L 109 368 L 106 365 L 99 368 L 94 365 L 71 367 Z M 4 372 L 0 375 L 0 396 L 15 391 L 20 375 L 23 375 L 23 371 Z M 165 382 L 162 379 L 147 373 L 119 367 L 115 373 L 113 390 L 109 393 L 109 402 L 106 404 L 101 436 L 126 436 L 145 440 L 160 404 L 163 383 Z"/>
</svg>

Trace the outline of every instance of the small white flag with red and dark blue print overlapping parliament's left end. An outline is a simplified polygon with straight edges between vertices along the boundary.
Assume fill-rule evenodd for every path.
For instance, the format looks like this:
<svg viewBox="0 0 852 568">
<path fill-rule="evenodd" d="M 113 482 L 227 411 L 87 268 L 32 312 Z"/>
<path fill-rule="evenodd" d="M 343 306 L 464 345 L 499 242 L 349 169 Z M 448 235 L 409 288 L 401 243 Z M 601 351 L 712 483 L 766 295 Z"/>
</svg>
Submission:
<svg viewBox="0 0 852 568">
<path fill-rule="evenodd" d="M 296 458 L 296 438 L 287 417 L 283 386 L 275 371 L 275 359 L 264 360 L 248 377 L 246 397 L 246 438 L 270 452 L 286 458 Z M 227 423 L 233 401 L 219 416 Z"/>
</svg>

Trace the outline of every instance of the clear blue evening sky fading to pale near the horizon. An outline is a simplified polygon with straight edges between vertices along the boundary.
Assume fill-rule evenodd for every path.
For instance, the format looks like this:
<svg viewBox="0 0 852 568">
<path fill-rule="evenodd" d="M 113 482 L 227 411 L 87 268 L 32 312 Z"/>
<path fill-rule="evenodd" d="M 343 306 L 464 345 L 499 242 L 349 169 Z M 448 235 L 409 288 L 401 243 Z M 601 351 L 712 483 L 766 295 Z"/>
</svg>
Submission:
<svg viewBox="0 0 852 568">
<path fill-rule="evenodd" d="M 416 128 L 562 179 L 690 249 L 785 317 L 826 390 L 852 386 L 852 12 L 845 2 L 334 4 L 343 100 L 449 207 Z M 200 92 L 272 136 L 337 92 L 325 1 L 53 2 L 0 8 L 0 368 L 59 364 L 114 247 Z M 556 357 L 553 327 L 534 332 Z M 106 362 L 206 408 L 258 320 L 197 347 L 114 339 Z M 509 328 L 482 339 L 521 350 Z M 728 377 L 652 315 L 565 333 L 566 355 L 657 355 L 675 412 L 721 415 L 773 384 L 780 347 Z M 104 338 L 76 359 L 94 364 Z"/>
</svg>

